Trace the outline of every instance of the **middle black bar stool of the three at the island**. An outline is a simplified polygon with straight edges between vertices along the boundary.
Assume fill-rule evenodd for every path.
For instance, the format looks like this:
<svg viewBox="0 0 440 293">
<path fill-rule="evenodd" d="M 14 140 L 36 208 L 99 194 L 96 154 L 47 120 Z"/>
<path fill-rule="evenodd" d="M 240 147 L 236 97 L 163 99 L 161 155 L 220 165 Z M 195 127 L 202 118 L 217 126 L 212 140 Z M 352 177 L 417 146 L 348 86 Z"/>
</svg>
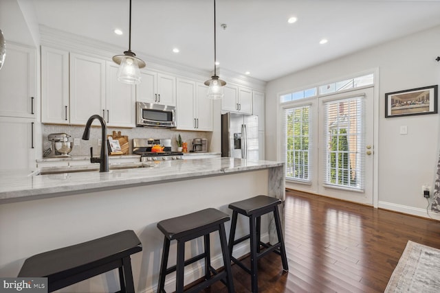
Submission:
<svg viewBox="0 0 440 293">
<path fill-rule="evenodd" d="M 224 225 L 224 223 L 229 220 L 230 218 L 228 214 L 222 213 L 217 209 L 203 209 L 201 211 L 196 211 L 195 213 L 181 215 L 180 217 L 170 218 L 157 223 L 157 228 L 159 228 L 159 230 L 165 235 L 162 263 L 160 264 L 159 283 L 157 285 L 158 293 L 165 292 L 165 277 L 171 272 L 176 272 L 176 292 L 184 292 L 185 266 L 203 258 L 205 259 L 205 281 L 194 285 L 186 292 L 199 292 L 208 288 L 212 283 L 222 281 L 227 286 L 228 292 L 234 293 L 231 262 Z M 221 252 L 223 253 L 224 262 L 224 270 L 222 272 L 214 270 L 210 261 L 209 235 L 214 231 L 219 231 L 220 235 Z M 203 236 L 204 239 L 205 251 L 200 255 L 185 261 L 185 242 L 201 236 Z M 177 240 L 177 264 L 176 266 L 167 268 L 171 240 Z M 212 276 L 211 273 L 213 274 Z"/>
</svg>

